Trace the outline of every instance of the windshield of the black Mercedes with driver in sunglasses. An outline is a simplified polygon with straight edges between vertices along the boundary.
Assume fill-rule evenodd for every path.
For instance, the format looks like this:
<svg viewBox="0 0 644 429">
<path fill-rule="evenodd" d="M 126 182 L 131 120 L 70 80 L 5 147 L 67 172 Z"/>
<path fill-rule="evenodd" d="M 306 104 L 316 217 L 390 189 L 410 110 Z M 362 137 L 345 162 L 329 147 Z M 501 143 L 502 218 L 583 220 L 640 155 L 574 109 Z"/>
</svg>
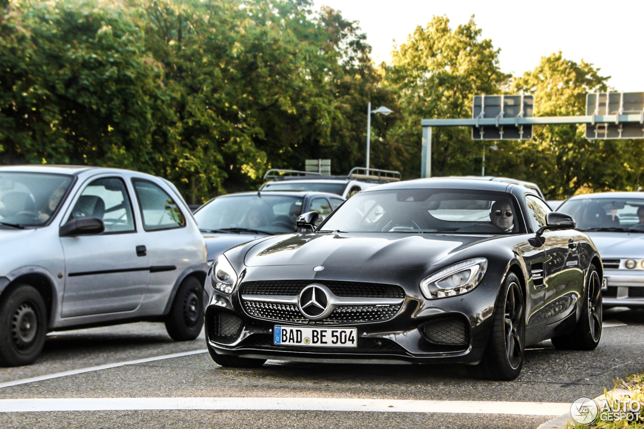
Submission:
<svg viewBox="0 0 644 429">
<path fill-rule="evenodd" d="M 368 191 L 346 200 L 321 226 L 345 233 L 511 234 L 520 232 L 506 193 L 458 189 Z"/>
</svg>

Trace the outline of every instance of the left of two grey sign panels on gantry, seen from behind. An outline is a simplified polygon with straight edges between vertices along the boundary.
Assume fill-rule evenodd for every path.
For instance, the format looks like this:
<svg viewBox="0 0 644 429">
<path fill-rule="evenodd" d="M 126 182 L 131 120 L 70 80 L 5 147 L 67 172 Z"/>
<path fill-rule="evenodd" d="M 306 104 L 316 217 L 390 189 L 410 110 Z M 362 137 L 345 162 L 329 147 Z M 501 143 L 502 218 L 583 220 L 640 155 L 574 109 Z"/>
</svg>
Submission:
<svg viewBox="0 0 644 429">
<path fill-rule="evenodd" d="M 532 95 L 476 95 L 472 117 L 474 140 L 528 140 L 532 138 L 531 125 L 499 125 L 498 119 L 529 118 L 535 112 Z M 478 119 L 497 119 L 495 126 L 479 126 Z"/>
</svg>

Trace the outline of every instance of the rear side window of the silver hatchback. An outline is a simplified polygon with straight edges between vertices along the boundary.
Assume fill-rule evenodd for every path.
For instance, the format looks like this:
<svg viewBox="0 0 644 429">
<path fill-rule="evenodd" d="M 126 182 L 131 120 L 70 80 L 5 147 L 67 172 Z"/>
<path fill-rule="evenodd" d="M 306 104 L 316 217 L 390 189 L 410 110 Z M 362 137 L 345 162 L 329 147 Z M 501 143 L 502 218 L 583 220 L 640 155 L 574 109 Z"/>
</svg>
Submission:
<svg viewBox="0 0 644 429">
<path fill-rule="evenodd" d="M 132 182 L 141 207 L 143 229 L 158 231 L 185 226 L 184 214 L 160 186 L 142 179 L 133 179 Z"/>
</svg>

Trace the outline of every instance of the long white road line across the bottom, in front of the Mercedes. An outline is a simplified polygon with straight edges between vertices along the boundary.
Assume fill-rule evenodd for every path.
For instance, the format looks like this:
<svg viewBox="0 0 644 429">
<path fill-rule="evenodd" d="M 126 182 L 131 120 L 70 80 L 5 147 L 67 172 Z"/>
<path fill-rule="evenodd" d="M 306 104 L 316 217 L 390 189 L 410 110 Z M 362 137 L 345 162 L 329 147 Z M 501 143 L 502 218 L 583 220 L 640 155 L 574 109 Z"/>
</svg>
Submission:
<svg viewBox="0 0 644 429">
<path fill-rule="evenodd" d="M 291 410 L 455 414 L 560 415 L 569 403 L 502 401 L 414 401 L 290 397 L 108 397 L 0 399 L 0 412 L 126 410 Z"/>
</svg>

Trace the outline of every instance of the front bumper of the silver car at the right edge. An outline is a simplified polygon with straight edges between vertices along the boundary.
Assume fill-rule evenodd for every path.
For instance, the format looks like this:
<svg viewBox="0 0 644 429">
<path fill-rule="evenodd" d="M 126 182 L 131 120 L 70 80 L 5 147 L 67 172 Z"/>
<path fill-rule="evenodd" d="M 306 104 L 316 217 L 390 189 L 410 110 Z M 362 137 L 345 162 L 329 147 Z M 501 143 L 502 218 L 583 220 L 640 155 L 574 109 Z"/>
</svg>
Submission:
<svg viewBox="0 0 644 429">
<path fill-rule="evenodd" d="M 644 271 L 605 269 L 604 307 L 644 308 Z"/>
</svg>

